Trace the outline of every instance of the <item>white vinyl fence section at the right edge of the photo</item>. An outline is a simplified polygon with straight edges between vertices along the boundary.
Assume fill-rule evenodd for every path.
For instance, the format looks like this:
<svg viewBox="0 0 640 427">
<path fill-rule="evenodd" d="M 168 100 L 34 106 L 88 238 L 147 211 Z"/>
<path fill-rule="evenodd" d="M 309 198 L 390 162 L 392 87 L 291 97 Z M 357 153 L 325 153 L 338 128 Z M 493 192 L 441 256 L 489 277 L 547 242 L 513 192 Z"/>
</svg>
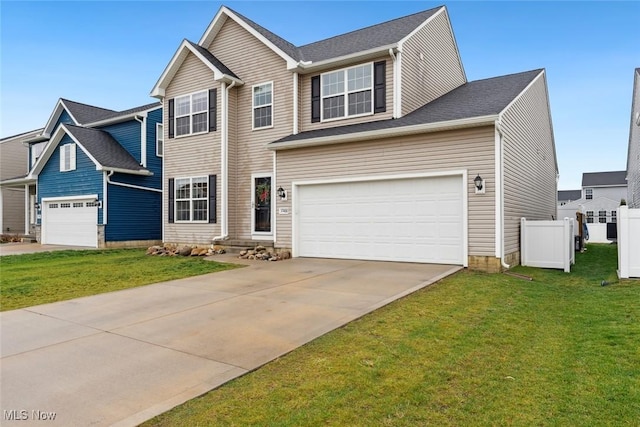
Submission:
<svg viewBox="0 0 640 427">
<path fill-rule="evenodd" d="M 618 208 L 618 276 L 640 277 L 640 209 Z"/>
</svg>

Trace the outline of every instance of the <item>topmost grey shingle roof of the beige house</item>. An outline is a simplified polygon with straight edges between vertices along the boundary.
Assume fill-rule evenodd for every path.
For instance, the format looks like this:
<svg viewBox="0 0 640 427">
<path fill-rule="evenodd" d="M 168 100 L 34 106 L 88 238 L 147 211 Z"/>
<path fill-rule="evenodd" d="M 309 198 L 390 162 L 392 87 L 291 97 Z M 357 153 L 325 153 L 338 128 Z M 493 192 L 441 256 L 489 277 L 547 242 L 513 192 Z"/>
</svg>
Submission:
<svg viewBox="0 0 640 427">
<path fill-rule="evenodd" d="M 412 15 L 403 16 L 303 46 L 295 46 L 277 34 L 256 24 L 246 16 L 235 10 L 229 10 L 232 10 L 240 19 L 244 20 L 250 27 L 263 35 L 291 58 L 297 61 L 317 62 L 397 43 L 442 7 L 443 6 L 439 6 Z"/>
</svg>

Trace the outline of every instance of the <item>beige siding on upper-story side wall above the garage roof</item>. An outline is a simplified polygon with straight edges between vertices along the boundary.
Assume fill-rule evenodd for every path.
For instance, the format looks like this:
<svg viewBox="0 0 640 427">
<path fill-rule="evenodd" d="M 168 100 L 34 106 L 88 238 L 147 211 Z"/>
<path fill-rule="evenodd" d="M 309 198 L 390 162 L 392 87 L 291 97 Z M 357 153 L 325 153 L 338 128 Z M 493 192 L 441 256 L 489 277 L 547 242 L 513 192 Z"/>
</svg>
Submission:
<svg viewBox="0 0 640 427">
<path fill-rule="evenodd" d="M 466 81 L 444 8 L 404 43 L 401 55 L 402 115 Z"/>
</svg>

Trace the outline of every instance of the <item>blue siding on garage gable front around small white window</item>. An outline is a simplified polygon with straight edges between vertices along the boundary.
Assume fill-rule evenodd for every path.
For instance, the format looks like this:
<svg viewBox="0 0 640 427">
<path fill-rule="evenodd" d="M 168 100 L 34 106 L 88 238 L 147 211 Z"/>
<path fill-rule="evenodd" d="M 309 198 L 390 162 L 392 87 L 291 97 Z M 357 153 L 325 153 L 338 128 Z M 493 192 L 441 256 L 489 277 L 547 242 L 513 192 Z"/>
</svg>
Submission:
<svg viewBox="0 0 640 427">
<path fill-rule="evenodd" d="M 60 146 L 68 143 L 73 143 L 73 140 L 65 135 L 38 175 L 38 202 L 41 203 L 45 197 L 89 194 L 97 194 L 103 200 L 103 174 L 96 170 L 95 163 L 79 146 L 76 146 L 76 169 L 60 172 Z M 98 209 L 98 223 L 102 223 L 102 209 Z"/>
</svg>

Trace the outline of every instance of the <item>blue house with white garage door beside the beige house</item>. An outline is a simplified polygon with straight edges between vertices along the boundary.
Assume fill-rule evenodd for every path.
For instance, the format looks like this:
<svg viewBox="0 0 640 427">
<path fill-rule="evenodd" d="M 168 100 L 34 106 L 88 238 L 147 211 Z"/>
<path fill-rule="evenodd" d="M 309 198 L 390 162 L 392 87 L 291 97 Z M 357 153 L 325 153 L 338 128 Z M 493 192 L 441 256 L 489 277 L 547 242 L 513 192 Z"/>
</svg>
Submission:
<svg viewBox="0 0 640 427">
<path fill-rule="evenodd" d="M 162 239 L 162 105 L 113 111 L 60 99 L 27 141 L 25 182 L 42 244 L 141 246 Z"/>
</svg>

